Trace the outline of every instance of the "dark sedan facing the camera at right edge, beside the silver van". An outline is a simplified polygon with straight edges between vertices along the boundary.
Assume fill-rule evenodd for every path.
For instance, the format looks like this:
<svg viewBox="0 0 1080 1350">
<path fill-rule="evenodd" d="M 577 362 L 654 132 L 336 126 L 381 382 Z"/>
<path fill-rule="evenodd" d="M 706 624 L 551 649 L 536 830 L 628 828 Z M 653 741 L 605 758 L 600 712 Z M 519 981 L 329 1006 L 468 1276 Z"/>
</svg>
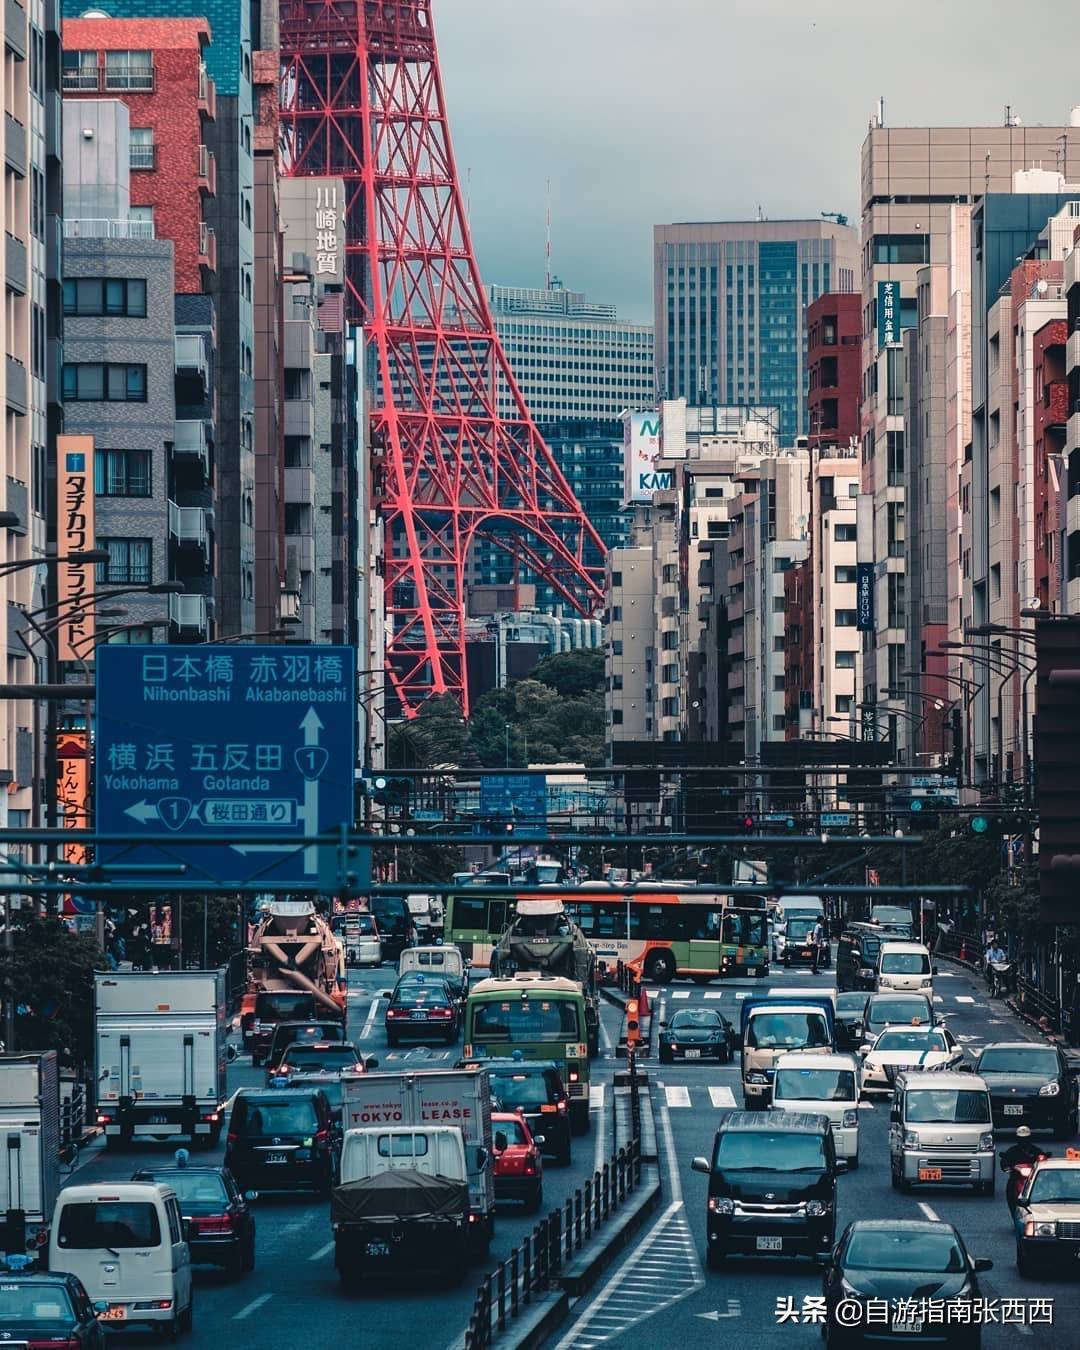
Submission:
<svg viewBox="0 0 1080 1350">
<path fill-rule="evenodd" d="M 1038 1041 L 983 1046 L 975 1072 L 986 1079 L 996 1130 L 1052 1130 L 1056 1139 L 1077 1131 L 1077 1085 L 1061 1050 Z"/>
</svg>

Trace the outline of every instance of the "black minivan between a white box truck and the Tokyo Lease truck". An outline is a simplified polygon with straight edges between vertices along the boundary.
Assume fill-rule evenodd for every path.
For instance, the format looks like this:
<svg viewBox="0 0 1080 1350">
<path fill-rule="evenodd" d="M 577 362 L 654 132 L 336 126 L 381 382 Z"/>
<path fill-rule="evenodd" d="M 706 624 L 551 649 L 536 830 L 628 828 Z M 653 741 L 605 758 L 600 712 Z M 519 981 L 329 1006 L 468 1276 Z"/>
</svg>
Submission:
<svg viewBox="0 0 1080 1350">
<path fill-rule="evenodd" d="M 319 1088 L 243 1088 L 228 1122 L 225 1166 L 242 1191 L 329 1195 L 339 1142 L 331 1104 Z"/>
</svg>

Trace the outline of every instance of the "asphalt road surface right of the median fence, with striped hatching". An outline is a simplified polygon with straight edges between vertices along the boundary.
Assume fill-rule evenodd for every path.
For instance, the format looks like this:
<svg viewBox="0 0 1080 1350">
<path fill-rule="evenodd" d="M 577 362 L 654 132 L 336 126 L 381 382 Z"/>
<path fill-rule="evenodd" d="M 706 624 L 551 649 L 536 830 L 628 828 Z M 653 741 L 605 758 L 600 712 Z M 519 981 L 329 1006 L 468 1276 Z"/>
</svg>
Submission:
<svg viewBox="0 0 1080 1350">
<path fill-rule="evenodd" d="M 833 984 L 832 972 L 817 980 Z M 732 981 L 702 990 L 675 983 L 662 991 L 663 1007 L 688 1003 L 718 1006 L 737 1021 L 737 995 L 757 981 Z M 807 972 L 778 972 L 767 987 L 814 983 Z M 759 984 L 760 987 L 760 984 Z M 936 981 L 938 1013 L 968 1050 L 990 1041 L 1038 1040 L 1035 1031 L 987 996 L 983 981 L 941 965 Z M 798 1312 L 803 1296 L 821 1293 L 821 1270 L 805 1261 L 751 1261 L 732 1258 L 721 1272 L 705 1266 L 705 1202 L 709 1179 L 690 1170 L 695 1154 L 709 1154 L 720 1112 L 741 1107 L 737 1060 L 729 1068 L 648 1061 L 657 1106 L 657 1130 L 666 1195 L 657 1218 L 632 1253 L 574 1308 L 574 1320 L 547 1342 L 548 1350 L 591 1350 L 612 1346 L 640 1350 L 641 1345 L 714 1347 L 733 1335 L 740 1345 L 760 1350 L 821 1345 L 813 1323 L 778 1322 L 778 1300 L 792 1300 Z M 911 1195 L 894 1191 L 888 1177 L 888 1114 L 879 1098 L 860 1111 L 860 1168 L 838 1181 L 840 1234 L 856 1218 L 940 1218 L 960 1230 L 973 1256 L 991 1257 L 994 1269 L 980 1276 L 987 1299 L 1050 1299 L 1052 1324 L 992 1326 L 987 1350 L 1004 1346 L 1080 1345 L 1080 1276 L 1021 1280 L 1015 1269 L 1013 1226 L 1004 1202 L 1004 1176 L 998 1173 L 994 1196 L 969 1191 L 923 1187 Z M 1002 1145 L 999 1143 L 999 1148 Z M 1068 1143 L 1048 1145 L 1057 1156 Z"/>
</svg>

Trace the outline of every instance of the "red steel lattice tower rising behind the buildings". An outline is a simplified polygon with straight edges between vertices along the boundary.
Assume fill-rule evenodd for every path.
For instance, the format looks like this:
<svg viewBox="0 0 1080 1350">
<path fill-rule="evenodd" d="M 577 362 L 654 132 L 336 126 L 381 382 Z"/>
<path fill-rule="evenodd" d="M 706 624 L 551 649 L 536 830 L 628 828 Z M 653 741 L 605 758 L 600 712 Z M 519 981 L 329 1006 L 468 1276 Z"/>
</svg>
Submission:
<svg viewBox="0 0 1080 1350">
<path fill-rule="evenodd" d="M 431 0 L 281 0 L 285 171 L 346 184 L 350 316 L 367 331 L 387 674 L 406 716 L 468 713 L 464 586 L 491 539 L 582 614 L 605 545 L 495 333 L 454 162 Z M 500 416 L 509 390 L 517 416 Z"/>
</svg>

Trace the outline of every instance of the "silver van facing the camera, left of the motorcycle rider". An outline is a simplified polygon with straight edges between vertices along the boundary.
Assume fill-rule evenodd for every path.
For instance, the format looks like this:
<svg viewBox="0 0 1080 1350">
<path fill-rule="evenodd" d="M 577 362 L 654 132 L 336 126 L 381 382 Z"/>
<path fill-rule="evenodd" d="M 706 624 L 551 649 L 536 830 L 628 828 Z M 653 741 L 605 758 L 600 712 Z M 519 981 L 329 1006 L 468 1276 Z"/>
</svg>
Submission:
<svg viewBox="0 0 1080 1350">
<path fill-rule="evenodd" d="M 888 1114 L 892 1185 L 972 1185 L 994 1195 L 990 1089 L 976 1073 L 909 1072 L 896 1077 Z"/>
</svg>

